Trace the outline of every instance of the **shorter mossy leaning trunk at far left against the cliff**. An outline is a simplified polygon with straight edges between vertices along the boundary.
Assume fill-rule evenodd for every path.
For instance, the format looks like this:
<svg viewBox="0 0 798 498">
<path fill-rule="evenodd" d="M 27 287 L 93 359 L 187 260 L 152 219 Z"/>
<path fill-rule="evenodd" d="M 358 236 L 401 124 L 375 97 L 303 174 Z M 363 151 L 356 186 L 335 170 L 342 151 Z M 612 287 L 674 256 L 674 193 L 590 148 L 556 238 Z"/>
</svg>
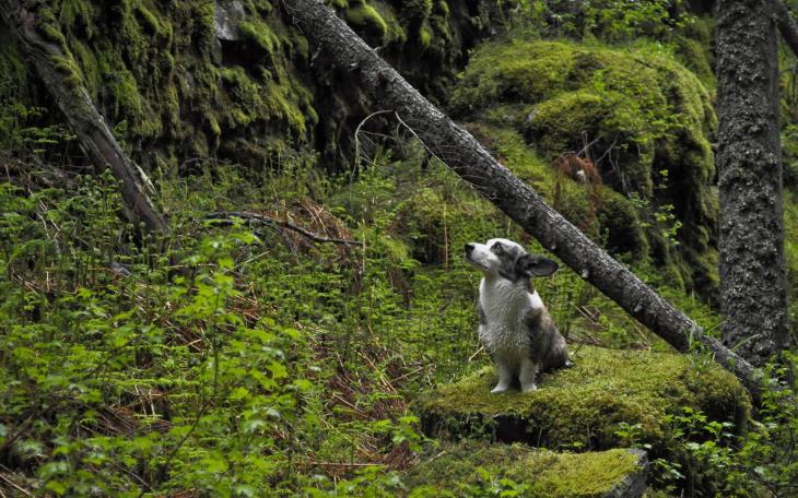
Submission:
<svg viewBox="0 0 798 498">
<path fill-rule="evenodd" d="M 80 82 L 71 56 L 59 44 L 45 39 L 36 28 L 36 12 L 20 0 L 0 0 L 0 16 L 33 62 L 42 82 L 52 95 L 95 167 L 110 168 L 121 182 L 125 216 L 134 225 L 144 223 L 153 233 L 166 232 L 166 221 L 146 194 L 146 178 L 130 161 L 110 128 Z M 66 68 L 70 68 L 67 71 Z"/>
</svg>

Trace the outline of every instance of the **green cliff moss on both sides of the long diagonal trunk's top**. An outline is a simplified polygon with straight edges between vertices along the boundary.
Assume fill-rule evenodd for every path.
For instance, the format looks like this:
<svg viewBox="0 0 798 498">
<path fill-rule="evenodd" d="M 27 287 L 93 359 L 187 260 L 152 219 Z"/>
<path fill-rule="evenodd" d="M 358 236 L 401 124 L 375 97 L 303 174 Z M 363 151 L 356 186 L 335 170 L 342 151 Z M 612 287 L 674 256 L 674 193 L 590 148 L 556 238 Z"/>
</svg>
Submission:
<svg viewBox="0 0 798 498">
<path fill-rule="evenodd" d="M 423 91 L 444 95 L 443 75 L 451 76 L 458 57 L 448 50 L 454 42 L 445 1 L 328 3 L 345 10 L 341 15 L 369 43 L 384 46 L 387 57 L 410 52 L 404 51 L 410 44 L 423 48 L 421 63 L 415 56 L 400 57 L 412 61 L 404 67 L 421 75 Z M 54 0 L 37 13 L 43 36 L 71 52 L 78 69 L 73 81 L 82 80 L 112 124 L 126 123 L 119 139 L 145 168 L 154 155 L 178 161 L 197 151 L 262 165 L 272 157 L 256 151 L 269 154 L 277 144 L 273 155 L 287 145 L 309 145 L 319 120 L 329 131 L 328 150 L 337 147 L 337 137 L 349 132 L 339 130 L 348 123 L 341 116 L 356 111 L 337 98 L 319 117 L 309 91 L 307 40 L 282 17 L 277 2 L 240 2 L 242 39 L 223 42 L 215 38 L 214 4 L 118 0 L 101 9 L 91 0 Z M 421 32 L 406 8 L 423 17 Z M 234 67 L 245 70 L 248 82 L 220 78 Z M 361 95 L 352 99 L 365 102 Z M 245 107 L 253 102 L 255 107 Z M 232 147 L 238 139 L 257 143 L 239 154 Z"/>
</svg>

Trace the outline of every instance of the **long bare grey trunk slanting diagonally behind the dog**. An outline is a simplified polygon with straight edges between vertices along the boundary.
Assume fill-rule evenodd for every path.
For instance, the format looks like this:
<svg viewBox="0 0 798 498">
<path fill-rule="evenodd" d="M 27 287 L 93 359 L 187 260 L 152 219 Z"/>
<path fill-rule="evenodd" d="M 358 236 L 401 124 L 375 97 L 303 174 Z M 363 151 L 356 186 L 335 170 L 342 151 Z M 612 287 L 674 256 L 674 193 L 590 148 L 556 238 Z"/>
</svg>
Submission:
<svg viewBox="0 0 798 498">
<path fill-rule="evenodd" d="M 395 110 L 449 168 L 578 275 L 676 349 L 688 352 L 695 341 L 712 352 L 715 359 L 731 370 L 758 398 L 761 380 L 759 370 L 716 339 L 705 335 L 695 322 L 548 206 L 526 183 L 498 164 L 473 137 L 404 81 L 335 12 L 318 0 L 285 1 L 283 9 L 287 19 L 304 32 L 312 44 L 326 50 L 339 68 L 348 71 L 351 84 L 365 88 L 380 108 Z"/>
</svg>

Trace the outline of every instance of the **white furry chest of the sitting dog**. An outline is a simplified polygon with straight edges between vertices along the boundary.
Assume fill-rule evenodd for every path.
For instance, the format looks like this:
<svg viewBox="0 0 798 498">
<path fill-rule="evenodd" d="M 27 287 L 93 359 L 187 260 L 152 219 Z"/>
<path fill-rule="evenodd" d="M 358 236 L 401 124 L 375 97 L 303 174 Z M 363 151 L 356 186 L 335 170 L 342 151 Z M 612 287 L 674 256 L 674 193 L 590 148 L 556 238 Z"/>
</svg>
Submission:
<svg viewBox="0 0 798 498">
<path fill-rule="evenodd" d="M 524 322 L 533 309 L 542 310 L 537 292 L 528 292 L 524 283 L 484 280 L 480 284 L 480 305 L 485 323 L 480 340 L 493 354 L 523 354 L 530 346 L 530 331 Z"/>
</svg>

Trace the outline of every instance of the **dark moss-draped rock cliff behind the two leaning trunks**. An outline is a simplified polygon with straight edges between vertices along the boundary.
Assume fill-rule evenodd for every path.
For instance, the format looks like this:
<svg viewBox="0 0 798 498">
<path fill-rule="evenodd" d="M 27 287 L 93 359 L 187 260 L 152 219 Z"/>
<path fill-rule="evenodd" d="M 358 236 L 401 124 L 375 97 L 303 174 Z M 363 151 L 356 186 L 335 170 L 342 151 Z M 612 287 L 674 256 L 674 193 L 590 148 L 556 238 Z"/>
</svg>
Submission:
<svg viewBox="0 0 798 498">
<path fill-rule="evenodd" d="M 162 167 L 159 159 L 198 164 L 202 158 L 260 168 L 314 147 L 326 163 L 347 164 L 355 127 L 374 110 L 348 70 L 324 52 L 310 52 L 287 13 L 290 2 L 285 8 L 275 0 L 28 3 L 42 34 L 67 55 L 63 68 L 84 84 L 145 169 Z M 478 33 L 489 33 L 471 19 L 465 0 L 328 3 L 438 99 Z M 3 25 L 0 42 L 0 73 L 35 86 L 37 79 Z M 60 119 L 40 91 L 0 81 L 0 123 L 16 121 L 20 106 L 46 107 L 38 115 L 52 110 L 48 119 L 23 124 Z M 7 102 L 15 107 L 7 110 Z"/>
</svg>

